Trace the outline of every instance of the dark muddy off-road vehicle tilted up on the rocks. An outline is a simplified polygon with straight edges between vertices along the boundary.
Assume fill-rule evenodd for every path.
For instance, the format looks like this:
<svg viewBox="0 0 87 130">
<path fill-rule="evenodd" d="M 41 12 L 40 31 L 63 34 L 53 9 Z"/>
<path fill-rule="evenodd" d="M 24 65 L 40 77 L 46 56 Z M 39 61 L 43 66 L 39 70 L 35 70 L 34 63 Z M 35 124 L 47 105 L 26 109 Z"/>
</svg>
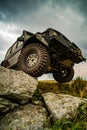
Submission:
<svg viewBox="0 0 87 130">
<path fill-rule="evenodd" d="M 24 30 L 8 49 L 1 65 L 34 77 L 53 73 L 56 81 L 64 83 L 72 80 L 74 64 L 84 60 L 80 48 L 60 32 L 48 28 L 35 34 Z"/>
</svg>

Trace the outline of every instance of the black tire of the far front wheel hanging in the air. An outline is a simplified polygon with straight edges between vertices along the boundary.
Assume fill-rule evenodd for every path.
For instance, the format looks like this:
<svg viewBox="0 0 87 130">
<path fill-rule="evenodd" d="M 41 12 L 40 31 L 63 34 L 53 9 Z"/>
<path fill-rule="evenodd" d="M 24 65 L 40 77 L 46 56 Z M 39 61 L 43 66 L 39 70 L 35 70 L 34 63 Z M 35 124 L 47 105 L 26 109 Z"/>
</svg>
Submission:
<svg viewBox="0 0 87 130">
<path fill-rule="evenodd" d="M 70 82 L 74 76 L 74 69 L 68 68 L 68 69 L 66 69 L 66 71 L 67 71 L 67 73 L 65 76 L 60 74 L 60 72 L 58 72 L 58 71 L 54 71 L 53 72 L 54 79 L 60 83 Z"/>
</svg>

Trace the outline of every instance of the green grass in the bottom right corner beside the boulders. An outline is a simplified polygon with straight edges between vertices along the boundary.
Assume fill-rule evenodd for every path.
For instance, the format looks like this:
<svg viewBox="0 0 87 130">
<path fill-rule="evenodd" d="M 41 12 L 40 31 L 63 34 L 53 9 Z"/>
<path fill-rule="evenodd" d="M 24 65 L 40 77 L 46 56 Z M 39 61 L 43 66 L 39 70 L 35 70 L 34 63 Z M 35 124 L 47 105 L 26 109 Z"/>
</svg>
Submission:
<svg viewBox="0 0 87 130">
<path fill-rule="evenodd" d="M 72 119 L 55 121 L 51 130 L 87 130 L 87 103 L 81 104 Z"/>
</svg>

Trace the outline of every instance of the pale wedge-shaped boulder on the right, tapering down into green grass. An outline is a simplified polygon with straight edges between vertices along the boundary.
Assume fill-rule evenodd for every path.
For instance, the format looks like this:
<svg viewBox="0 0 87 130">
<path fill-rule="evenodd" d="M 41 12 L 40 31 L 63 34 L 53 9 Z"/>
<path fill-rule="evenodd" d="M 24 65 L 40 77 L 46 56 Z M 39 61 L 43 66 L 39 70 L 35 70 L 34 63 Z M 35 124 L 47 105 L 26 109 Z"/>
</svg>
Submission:
<svg viewBox="0 0 87 130">
<path fill-rule="evenodd" d="M 67 119 L 74 117 L 78 106 L 82 102 L 87 102 L 87 100 L 66 94 L 49 92 L 44 93 L 42 96 L 53 120 L 59 120 L 62 119 L 62 117 Z"/>
</svg>

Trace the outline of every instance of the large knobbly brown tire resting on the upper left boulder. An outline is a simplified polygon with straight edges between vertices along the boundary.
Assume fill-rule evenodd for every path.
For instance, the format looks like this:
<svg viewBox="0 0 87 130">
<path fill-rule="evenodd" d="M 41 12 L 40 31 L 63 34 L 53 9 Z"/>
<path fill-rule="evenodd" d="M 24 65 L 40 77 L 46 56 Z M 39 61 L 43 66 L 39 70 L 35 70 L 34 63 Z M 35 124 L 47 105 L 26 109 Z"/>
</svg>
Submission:
<svg viewBox="0 0 87 130">
<path fill-rule="evenodd" d="M 29 64 L 31 65 L 29 66 L 27 63 L 27 59 L 29 59 L 31 56 L 34 55 L 38 57 L 38 60 L 36 59 L 35 61 L 37 63 L 35 65 Z M 33 62 L 31 61 L 31 63 Z M 46 47 L 44 47 L 44 45 L 39 43 L 31 43 L 27 45 L 23 49 L 18 60 L 18 68 L 34 77 L 39 77 L 42 74 L 44 74 L 47 71 L 49 64 L 50 64 L 49 53 L 47 52 Z"/>
</svg>

